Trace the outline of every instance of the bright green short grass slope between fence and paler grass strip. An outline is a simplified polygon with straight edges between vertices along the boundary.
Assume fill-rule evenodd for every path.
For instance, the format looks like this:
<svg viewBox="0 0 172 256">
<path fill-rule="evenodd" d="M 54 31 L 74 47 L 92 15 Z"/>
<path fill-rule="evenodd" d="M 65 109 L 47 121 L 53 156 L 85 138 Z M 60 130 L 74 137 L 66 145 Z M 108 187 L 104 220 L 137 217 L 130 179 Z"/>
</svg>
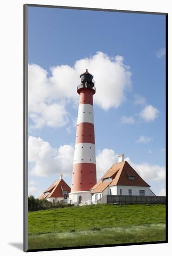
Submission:
<svg viewBox="0 0 172 256">
<path fill-rule="evenodd" d="M 28 233 L 87 230 L 165 223 L 166 205 L 110 205 L 47 209 L 28 213 Z"/>
</svg>

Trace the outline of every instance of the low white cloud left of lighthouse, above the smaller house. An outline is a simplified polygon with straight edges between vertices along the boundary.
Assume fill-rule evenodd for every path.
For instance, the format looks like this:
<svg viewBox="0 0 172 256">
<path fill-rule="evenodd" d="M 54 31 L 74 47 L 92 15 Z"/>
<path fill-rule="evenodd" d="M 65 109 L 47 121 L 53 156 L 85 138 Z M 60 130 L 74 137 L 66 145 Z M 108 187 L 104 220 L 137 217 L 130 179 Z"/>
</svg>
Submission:
<svg viewBox="0 0 172 256">
<path fill-rule="evenodd" d="M 40 137 L 29 136 L 28 161 L 33 162 L 31 175 L 47 176 L 63 173 L 71 175 L 73 166 L 74 148 L 71 145 L 52 148 L 49 142 Z"/>
</svg>

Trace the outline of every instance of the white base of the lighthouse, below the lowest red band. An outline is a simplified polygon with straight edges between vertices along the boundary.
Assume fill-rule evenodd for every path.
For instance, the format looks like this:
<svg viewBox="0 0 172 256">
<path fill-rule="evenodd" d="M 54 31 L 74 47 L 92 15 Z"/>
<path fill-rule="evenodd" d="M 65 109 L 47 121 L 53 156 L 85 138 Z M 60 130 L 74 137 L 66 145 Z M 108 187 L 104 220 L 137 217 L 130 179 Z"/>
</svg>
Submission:
<svg viewBox="0 0 172 256">
<path fill-rule="evenodd" d="M 69 203 L 77 205 L 89 200 L 91 200 L 90 191 L 76 191 L 69 193 Z"/>
</svg>

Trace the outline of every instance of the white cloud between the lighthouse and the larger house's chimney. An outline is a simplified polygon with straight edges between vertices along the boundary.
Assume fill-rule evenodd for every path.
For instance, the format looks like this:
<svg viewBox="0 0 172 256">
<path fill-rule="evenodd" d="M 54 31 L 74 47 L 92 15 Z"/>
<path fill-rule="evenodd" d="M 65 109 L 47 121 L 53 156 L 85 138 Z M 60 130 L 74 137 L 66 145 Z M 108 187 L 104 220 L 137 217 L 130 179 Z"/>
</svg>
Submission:
<svg viewBox="0 0 172 256">
<path fill-rule="evenodd" d="M 99 150 L 96 156 L 97 180 L 99 180 L 117 161 L 118 155 L 115 154 L 114 150 L 108 148 L 104 148 L 102 151 Z"/>
</svg>

